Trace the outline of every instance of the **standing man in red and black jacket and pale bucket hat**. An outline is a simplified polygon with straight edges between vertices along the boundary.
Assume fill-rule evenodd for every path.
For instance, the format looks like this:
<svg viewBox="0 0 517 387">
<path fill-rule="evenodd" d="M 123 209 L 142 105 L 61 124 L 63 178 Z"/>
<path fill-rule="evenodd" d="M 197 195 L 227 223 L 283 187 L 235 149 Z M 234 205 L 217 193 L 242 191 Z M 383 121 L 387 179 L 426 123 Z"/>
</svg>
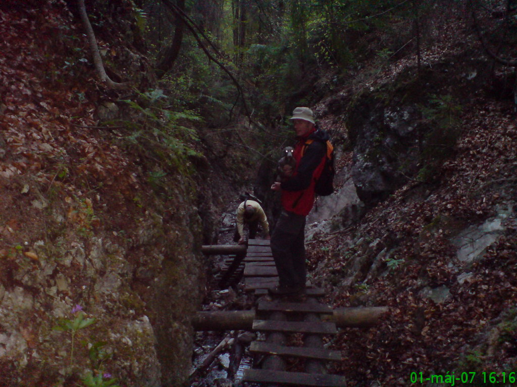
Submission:
<svg viewBox="0 0 517 387">
<path fill-rule="evenodd" d="M 312 110 L 293 110 L 294 130 L 298 142 L 293 156 L 296 167 L 291 178 L 271 185 L 282 192 L 282 213 L 271 235 L 271 251 L 279 276 L 279 285 L 269 289 L 273 295 L 292 295 L 305 291 L 305 218 L 314 205 L 314 184 L 320 177 L 330 138 L 316 130 Z M 307 140 L 313 140 L 306 144 Z"/>
</svg>

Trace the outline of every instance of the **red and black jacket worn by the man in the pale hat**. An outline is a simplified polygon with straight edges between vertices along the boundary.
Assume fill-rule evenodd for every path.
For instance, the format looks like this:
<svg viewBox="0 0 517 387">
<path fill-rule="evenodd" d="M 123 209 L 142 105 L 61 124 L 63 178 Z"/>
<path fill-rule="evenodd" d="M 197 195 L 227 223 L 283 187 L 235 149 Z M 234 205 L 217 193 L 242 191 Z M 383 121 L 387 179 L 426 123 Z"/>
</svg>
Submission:
<svg viewBox="0 0 517 387">
<path fill-rule="evenodd" d="M 310 144 L 306 141 L 312 139 Z M 285 211 L 307 215 L 314 205 L 314 184 L 320 177 L 327 154 L 326 141 L 330 136 L 322 130 L 314 130 L 307 137 L 298 139 L 293 156 L 296 168 L 291 179 L 281 184 L 282 207 Z M 303 148 L 306 148 L 305 151 Z"/>
</svg>

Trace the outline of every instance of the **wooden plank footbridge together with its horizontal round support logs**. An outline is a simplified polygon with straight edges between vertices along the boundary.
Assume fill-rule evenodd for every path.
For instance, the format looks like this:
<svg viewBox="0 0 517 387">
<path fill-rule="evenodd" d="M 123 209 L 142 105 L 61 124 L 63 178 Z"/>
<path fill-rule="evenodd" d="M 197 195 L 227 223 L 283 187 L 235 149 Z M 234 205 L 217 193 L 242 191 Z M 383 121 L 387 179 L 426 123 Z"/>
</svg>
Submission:
<svg viewBox="0 0 517 387">
<path fill-rule="evenodd" d="M 242 252 L 244 250 L 244 253 Z M 244 263 L 245 291 L 255 296 L 267 295 L 278 285 L 278 273 L 269 240 L 250 239 L 248 246 L 203 246 L 205 254 L 234 255 L 229 270 Z M 235 264 L 235 262 L 238 262 Z M 229 277 L 227 272 L 226 277 Z M 324 362 L 341 361 L 339 351 L 323 346 L 323 336 L 337 333 L 337 328 L 375 325 L 387 308 L 341 308 L 332 310 L 318 303 L 322 289 L 307 284 L 305 294 L 293 297 L 258 297 L 251 311 L 198 312 L 193 319 L 196 330 L 253 330 L 261 332 L 250 352 L 255 354 L 255 368 L 246 369 L 243 381 L 268 386 L 295 385 L 312 387 L 346 386 L 340 375 L 325 373 Z M 303 346 L 287 345 L 291 334 L 303 335 Z M 299 366 L 287 370 L 288 361 Z"/>
</svg>

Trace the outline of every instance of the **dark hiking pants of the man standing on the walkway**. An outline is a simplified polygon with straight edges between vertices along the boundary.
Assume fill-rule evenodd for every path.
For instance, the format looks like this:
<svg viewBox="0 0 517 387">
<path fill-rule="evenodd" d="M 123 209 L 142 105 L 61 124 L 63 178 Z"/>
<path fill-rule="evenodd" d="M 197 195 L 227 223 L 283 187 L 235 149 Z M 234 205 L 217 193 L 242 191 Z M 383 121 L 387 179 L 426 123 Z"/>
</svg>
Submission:
<svg viewBox="0 0 517 387">
<path fill-rule="evenodd" d="M 271 235 L 280 286 L 305 285 L 305 216 L 282 211 Z"/>
</svg>

